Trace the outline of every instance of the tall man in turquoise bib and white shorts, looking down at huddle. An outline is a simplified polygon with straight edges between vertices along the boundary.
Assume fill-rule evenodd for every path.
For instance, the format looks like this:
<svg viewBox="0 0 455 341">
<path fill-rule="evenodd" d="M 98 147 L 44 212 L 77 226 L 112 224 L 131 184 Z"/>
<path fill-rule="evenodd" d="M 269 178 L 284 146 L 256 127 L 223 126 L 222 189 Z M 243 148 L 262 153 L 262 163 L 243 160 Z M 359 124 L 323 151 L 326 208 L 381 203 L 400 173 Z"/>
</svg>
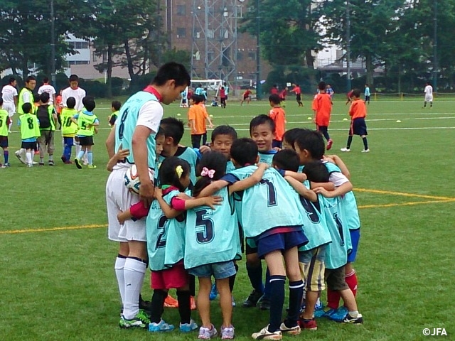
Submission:
<svg viewBox="0 0 455 341">
<path fill-rule="evenodd" d="M 120 243 L 115 261 L 115 274 L 123 303 L 120 328 L 148 328 L 148 316 L 139 311 L 139 293 L 146 272 L 145 220 L 127 220 L 120 225 L 117 214 L 139 200 L 149 205 L 154 197 L 154 183 L 149 168 L 155 169 L 155 135 L 163 117 L 161 104 L 171 104 L 190 85 L 190 75 L 177 63 L 161 66 L 151 85 L 129 97 L 119 112 L 119 118 L 106 141 L 109 157 L 120 147 L 129 149 L 129 156 L 119 161 L 106 184 L 109 239 Z M 136 164 L 141 187 L 139 195 L 130 193 L 124 185 L 128 168 Z"/>
</svg>

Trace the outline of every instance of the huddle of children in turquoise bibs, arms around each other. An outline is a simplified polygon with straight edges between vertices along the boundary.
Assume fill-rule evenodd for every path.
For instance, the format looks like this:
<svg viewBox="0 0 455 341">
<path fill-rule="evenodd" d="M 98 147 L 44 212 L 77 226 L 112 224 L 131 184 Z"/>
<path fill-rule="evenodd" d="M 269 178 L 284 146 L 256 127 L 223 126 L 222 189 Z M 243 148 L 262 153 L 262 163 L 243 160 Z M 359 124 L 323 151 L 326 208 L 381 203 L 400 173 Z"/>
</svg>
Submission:
<svg viewBox="0 0 455 341">
<path fill-rule="evenodd" d="M 201 146 L 197 166 L 193 149 L 179 145 L 182 135 L 181 121 L 161 121 L 156 135 L 157 146 L 163 145 L 156 200 L 149 208 L 139 202 L 118 215 L 121 224 L 146 219 L 154 293 L 149 325 L 135 326 L 151 332 L 173 330 L 162 314 L 168 289 L 176 288 L 181 331 L 198 328 L 191 319 L 192 275 L 199 283 L 198 337 L 215 337 L 209 298 L 213 276 L 223 315 L 220 334 L 232 339 L 232 289 L 244 238 L 247 273 L 254 288 L 244 306 L 269 296 L 262 297 L 269 301 L 269 322 L 252 338 L 281 340 L 282 333 L 316 330 L 315 316 L 363 323 L 355 301 L 357 278 L 350 265 L 360 236 L 353 186 L 341 159 L 323 155 L 322 135 L 291 129 L 284 134 L 284 149 L 276 151 L 274 121 L 259 115 L 250 122 L 251 139 L 237 139 L 235 129 L 218 126 L 210 146 Z M 119 153 L 124 156 L 124 151 Z M 200 178 L 193 182 L 196 168 Z M 267 264 L 265 288 L 262 259 Z M 283 320 L 286 278 L 289 306 Z M 315 312 L 325 282 L 328 304 Z"/>
</svg>

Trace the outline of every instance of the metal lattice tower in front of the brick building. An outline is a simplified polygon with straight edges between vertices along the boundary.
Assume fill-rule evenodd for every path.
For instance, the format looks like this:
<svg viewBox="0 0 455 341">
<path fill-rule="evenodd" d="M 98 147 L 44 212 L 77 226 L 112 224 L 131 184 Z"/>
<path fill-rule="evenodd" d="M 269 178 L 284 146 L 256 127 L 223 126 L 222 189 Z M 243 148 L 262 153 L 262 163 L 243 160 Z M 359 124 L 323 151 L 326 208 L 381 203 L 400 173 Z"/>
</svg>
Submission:
<svg viewBox="0 0 455 341">
<path fill-rule="evenodd" d="M 191 78 L 220 79 L 235 76 L 239 0 L 193 0 Z"/>
</svg>

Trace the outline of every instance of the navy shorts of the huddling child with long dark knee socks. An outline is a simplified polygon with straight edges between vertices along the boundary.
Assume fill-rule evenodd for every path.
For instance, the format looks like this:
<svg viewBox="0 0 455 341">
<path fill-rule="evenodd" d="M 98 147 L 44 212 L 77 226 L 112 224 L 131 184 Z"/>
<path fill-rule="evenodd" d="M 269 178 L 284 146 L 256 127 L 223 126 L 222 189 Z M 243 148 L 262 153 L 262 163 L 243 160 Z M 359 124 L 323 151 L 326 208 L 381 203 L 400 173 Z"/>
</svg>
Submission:
<svg viewBox="0 0 455 341">
<path fill-rule="evenodd" d="M 272 251 L 286 251 L 293 247 L 302 247 L 308 243 L 308 238 L 303 230 L 270 234 L 267 237 L 257 241 L 257 254 L 264 258 L 266 254 Z"/>
</svg>

